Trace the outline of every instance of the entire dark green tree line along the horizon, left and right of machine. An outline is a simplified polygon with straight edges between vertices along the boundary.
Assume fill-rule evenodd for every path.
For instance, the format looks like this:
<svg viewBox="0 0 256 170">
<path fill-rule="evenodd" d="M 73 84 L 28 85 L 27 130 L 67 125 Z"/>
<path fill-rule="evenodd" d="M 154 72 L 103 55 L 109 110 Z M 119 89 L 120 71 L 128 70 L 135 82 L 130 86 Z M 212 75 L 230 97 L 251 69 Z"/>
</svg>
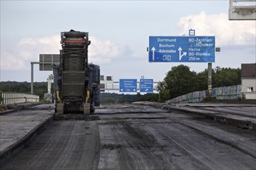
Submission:
<svg viewBox="0 0 256 170">
<path fill-rule="evenodd" d="M 212 71 L 213 88 L 239 85 L 241 83 L 241 70 L 239 68 L 220 68 L 217 66 Z M 159 101 L 170 100 L 186 93 L 199 90 L 206 90 L 208 86 L 208 71 L 196 73 L 191 71 L 189 66 L 179 65 L 171 67 L 166 73 L 164 80 L 157 85 L 158 93 L 146 94 L 118 94 L 101 93 L 102 104 L 116 104 L 133 101 Z M 0 82 L 0 92 L 30 93 L 28 82 Z M 34 94 L 43 100 L 44 93 L 47 93 L 47 82 L 34 83 Z"/>
</svg>

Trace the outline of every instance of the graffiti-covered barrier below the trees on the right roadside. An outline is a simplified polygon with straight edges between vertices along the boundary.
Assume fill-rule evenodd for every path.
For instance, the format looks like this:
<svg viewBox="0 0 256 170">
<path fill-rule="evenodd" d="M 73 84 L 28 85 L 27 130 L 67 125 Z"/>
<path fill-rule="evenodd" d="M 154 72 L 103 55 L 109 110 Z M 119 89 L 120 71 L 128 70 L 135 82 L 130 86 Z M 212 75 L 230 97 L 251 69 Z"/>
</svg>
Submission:
<svg viewBox="0 0 256 170">
<path fill-rule="evenodd" d="M 207 97 L 207 90 L 187 93 L 166 101 L 168 104 L 187 104 L 202 102 Z M 212 89 L 212 97 L 217 100 L 234 100 L 242 97 L 241 85 L 231 87 L 216 87 Z"/>
</svg>

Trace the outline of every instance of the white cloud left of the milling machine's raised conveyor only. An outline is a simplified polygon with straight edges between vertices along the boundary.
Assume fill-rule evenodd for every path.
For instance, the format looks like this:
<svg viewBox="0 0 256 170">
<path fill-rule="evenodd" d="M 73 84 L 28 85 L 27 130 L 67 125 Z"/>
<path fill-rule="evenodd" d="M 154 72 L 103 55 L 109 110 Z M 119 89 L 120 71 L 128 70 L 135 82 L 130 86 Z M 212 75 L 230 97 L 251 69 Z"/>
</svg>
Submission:
<svg viewBox="0 0 256 170">
<path fill-rule="evenodd" d="M 40 53 L 59 53 L 61 48 L 59 36 L 24 38 L 13 46 L 1 50 L 1 70 L 29 70 Z"/>
</svg>

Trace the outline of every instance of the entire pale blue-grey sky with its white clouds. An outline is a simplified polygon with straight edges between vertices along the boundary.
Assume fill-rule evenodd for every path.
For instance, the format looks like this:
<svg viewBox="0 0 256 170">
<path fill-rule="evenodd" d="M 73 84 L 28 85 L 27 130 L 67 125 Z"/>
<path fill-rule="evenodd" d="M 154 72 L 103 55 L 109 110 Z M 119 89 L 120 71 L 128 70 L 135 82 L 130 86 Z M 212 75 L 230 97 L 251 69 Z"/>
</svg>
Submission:
<svg viewBox="0 0 256 170">
<path fill-rule="evenodd" d="M 30 62 L 40 53 L 59 53 L 60 33 L 89 32 L 89 62 L 119 79 L 164 79 L 181 63 L 149 63 L 149 36 L 216 36 L 216 66 L 255 63 L 256 21 L 229 21 L 229 1 L 3 1 L 1 81 L 29 81 Z M 207 63 L 182 63 L 201 72 Z M 34 81 L 50 71 L 34 66 Z"/>
</svg>

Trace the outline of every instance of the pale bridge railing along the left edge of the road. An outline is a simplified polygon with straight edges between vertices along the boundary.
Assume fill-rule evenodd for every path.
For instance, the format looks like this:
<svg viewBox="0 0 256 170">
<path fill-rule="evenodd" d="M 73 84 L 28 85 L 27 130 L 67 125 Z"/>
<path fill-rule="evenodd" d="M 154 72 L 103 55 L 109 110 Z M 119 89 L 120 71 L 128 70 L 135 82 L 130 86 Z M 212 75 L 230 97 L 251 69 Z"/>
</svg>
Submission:
<svg viewBox="0 0 256 170">
<path fill-rule="evenodd" d="M 19 104 L 26 102 L 39 102 L 39 96 L 27 93 L 0 92 L 0 104 Z"/>
</svg>

